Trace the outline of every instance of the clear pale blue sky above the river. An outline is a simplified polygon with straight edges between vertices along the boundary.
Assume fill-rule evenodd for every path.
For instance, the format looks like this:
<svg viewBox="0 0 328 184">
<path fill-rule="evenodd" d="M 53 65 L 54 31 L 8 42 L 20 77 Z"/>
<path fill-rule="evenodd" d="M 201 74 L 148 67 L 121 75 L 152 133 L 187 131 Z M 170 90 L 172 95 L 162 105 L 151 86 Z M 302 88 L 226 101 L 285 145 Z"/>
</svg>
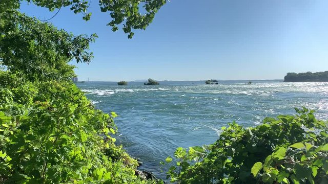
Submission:
<svg viewBox="0 0 328 184">
<path fill-rule="evenodd" d="M 39 19 L 55 14 L 22 5 Z M 283 79 L 288 72 L 328 70 L 327 0 L 171 0 L 146 31 L 112 32 L 91 1 L 90 21 L 61 9 L 50 20 L 74 34 L 97 33 L 92 63 L 79 80 Z"/>
</svg>

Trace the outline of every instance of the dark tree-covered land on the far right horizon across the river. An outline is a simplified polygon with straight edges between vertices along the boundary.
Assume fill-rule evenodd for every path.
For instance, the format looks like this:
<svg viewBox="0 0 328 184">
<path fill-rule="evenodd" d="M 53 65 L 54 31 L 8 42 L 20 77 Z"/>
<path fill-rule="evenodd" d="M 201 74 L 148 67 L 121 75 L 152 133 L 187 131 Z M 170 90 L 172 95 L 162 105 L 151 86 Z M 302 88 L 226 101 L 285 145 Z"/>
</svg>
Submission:
<svg viewBox="0 0 328 184">
<path fill-rule="evenodd" d="M 284 82 L 328 82 L 328 71 L 325 72 L 306 72 L 306 73 L 287 73 Z"/>
</svg>

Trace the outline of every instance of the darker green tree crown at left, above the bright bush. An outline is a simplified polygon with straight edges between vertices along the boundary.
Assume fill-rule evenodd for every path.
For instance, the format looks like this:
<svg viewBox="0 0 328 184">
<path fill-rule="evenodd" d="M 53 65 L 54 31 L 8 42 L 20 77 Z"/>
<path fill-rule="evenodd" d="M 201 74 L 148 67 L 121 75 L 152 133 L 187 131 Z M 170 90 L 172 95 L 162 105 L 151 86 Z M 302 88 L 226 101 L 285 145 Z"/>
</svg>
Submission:
<svg viewBox="0 0 328 184">
<path fill-rule="evenodd" d="M 2 64 L 29 80 L 71 78 L 74 66 L 67 63 L 89 63 L 89 43 L 97 37 L 74 36 L 15 10 L 0 13 L 0 36 Z"/>
</svg>

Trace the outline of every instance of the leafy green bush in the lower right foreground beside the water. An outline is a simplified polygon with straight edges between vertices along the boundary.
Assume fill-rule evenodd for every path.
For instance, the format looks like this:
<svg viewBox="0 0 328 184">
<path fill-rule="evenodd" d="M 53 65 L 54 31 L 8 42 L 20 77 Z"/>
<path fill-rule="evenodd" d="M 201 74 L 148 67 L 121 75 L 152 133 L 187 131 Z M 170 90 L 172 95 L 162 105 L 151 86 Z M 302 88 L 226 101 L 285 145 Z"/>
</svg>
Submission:
<svg viewBox="0 0 328 184">
<path fill-rule="evenodd" d="M 327 183 L 328 124 L 313 110 L 222 127 L 212 145 L 178 148 L 168 178 L 177 183 Z M 172 158 L 167 158 L 171 162 Z"/>
</svg>

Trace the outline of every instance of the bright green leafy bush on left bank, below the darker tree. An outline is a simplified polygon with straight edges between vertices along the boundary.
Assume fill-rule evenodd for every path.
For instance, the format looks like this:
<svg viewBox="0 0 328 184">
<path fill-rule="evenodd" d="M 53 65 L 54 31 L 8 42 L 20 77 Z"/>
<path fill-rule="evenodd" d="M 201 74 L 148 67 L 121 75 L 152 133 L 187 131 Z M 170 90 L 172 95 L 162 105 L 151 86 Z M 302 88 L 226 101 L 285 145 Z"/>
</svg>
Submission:
<svg viewBox="0 0 328 184">
<path fill-rule="evenodd" d="M 0 182 L 146 182 L 114 144 L 116 114 L 94 109 L 72 82 L 0 77 Z"/>
</svg>

